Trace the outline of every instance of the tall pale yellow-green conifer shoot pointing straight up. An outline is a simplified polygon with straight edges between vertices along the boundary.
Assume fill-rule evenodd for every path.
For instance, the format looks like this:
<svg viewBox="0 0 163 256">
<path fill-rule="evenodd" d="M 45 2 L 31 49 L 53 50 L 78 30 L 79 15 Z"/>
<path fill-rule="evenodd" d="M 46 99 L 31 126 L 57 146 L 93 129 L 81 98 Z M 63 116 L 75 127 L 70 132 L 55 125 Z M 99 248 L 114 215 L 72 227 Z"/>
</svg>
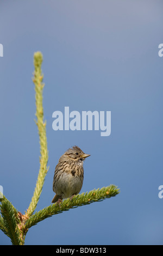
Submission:
<svg viewBox="0 0 163 256">
<path fill-rule="evenodd" d="M 45 176 L 48 172 L 47 162 L 48 162 L 48 150 L 47 150 L 47 138 L 46 138 L 46 122 L 43 121 L 43 105 L 42 105 L 42 91 L 45 84 L 42 83 L 43 74 L 41 71 L 42 64 L 42 53 L 34 53 L 34 78 L 33 82 L 35 84 L 35 101 L 36 101 L 36 117 L 35 121 L 40 138 L 40 170 L 37 176 L 36 187 L 32 201 L 30 202 L 29 208 L 27 209 L 27 216 L 31 216 L 36 209 L 37 203 L 42 192 L 43 183 L 45 181 Z"/>
</svg>

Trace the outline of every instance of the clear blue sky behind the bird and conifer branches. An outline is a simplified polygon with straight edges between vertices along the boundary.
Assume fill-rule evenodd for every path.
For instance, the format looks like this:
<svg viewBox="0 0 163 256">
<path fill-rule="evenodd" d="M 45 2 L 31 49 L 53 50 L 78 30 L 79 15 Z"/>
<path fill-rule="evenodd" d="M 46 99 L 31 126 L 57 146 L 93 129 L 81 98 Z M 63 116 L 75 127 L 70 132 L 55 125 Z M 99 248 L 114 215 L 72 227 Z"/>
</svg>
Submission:
<svg viewBox="0 0 163 256">
<path fill-rule="evenodd" d="M 78 145 L 81 192 L 115 184 L 121 193 L 48 218 L 26 245 L 162 245 L 162 1 L 1 1 L 0 154 L 5 196 L 22 213 L 39 172 L 33 54 L 43 54 L 49 171 L 36 210 L 51 204 L 55 166 Z M 111 111 L 111 135 L 54 131 L 52 113 Z M 10 240 L 0 233 L 1 245 Z"/>
</svg>

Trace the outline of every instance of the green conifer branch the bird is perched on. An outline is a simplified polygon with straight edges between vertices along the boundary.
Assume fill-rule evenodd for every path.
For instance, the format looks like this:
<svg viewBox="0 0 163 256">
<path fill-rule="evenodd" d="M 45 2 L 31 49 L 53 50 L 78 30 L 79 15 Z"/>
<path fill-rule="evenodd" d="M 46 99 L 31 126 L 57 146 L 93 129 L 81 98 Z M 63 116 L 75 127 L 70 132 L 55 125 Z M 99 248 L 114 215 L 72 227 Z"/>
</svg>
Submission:
<svg viewBox="0 0 163 256">
<path fill-rule="evenodd" d="M 52 215 L 60 214 L 71 208 L 101 201 L 105 198 L 115 197 L 118 193 L 120 193 L 120 190 L 115 185 L 110 185 L 101 189 L 98 188 L 97 190 L 78 194 L 77 196 L 74 196 L 72 200 L 70 198 L 65 199 L 60 205 L 58 203 L 51 204 L 31 216 L 26 222 L 24 230 L 29 229 L 33 225 L 36 225 L 38 222 L 45 220 L 45 218 L 51 217 Z"/>
</svg>

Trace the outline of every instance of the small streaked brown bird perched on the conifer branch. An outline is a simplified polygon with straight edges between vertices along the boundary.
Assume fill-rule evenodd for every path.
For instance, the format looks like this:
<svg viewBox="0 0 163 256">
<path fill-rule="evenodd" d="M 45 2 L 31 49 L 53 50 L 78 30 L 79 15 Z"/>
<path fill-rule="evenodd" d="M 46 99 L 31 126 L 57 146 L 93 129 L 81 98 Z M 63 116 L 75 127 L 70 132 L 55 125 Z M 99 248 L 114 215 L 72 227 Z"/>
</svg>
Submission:
<svg viewBox="0 0 163 256">
<path fill-rule="evenodd" d="M 52 203 L 62 199 L 73 197 L 82 189 L 84 170 L 83 162 L 90 155 L 77 146 L 68 149 L 59 159 L 55 167 L 53 179 L 53 191 L 56 193 Z"/>
</svg>

